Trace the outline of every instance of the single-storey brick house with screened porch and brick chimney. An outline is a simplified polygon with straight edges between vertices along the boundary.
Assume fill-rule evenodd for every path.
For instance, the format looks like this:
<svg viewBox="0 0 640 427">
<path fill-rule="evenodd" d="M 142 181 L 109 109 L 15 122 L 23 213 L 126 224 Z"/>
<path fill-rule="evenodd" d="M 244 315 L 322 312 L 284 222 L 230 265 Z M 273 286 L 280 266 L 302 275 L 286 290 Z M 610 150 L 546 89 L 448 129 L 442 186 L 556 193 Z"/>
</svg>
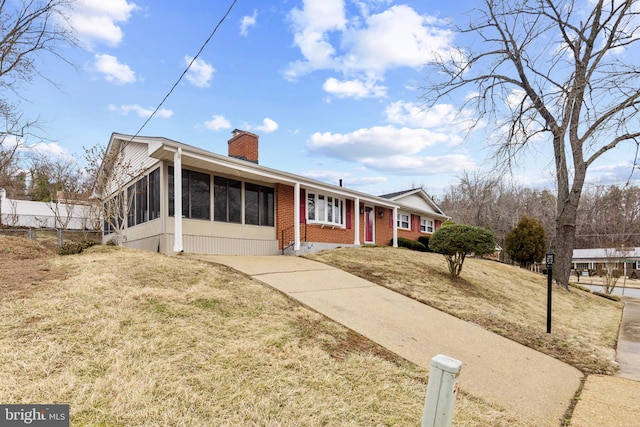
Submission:
<svg viewBox="0 0 640 427">
<path fill-rule="evenodd" d="M 398 237 L 429 236 L 448 219 L 421 189 L 374 196 L 261 166 L 258 136 L 232 134 L 228 156 L 161 137 L 111 136 L 94 195 L 105 206 L 117 195 L 129 201 L 118 202 L 130 206 L 122 224 L 126 246 L 298 255 L 397 246 Z M 114 231 L 106 221 L 105 242 Z"/>
</svg>

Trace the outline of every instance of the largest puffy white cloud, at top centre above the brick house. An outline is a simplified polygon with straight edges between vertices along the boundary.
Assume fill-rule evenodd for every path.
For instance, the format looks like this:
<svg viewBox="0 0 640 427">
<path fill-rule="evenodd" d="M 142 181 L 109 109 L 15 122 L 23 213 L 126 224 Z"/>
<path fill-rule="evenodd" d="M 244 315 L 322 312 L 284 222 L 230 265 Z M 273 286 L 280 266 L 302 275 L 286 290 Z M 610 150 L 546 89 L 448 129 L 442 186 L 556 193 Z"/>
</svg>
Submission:
<svg viewBox="0 0 640 427">
<path fill-rule="evenodd" d="M 381 88 L 378 82 L 384 80 L 389 69 L 418 69 L 438 55 L 453 55 L 454 32 L 442 22 L 406 5 L 369 13 L 370 6 L 380 8 L 386 4 L 387 1 L 359 2 L 360 15 L 349 20 L 342 0 L 306 0 L 303 9 L 294 8 L 289 15 L 294 43 L 304 59 L 289 63 L 285 78 L 295 80 L 315 70 L 333 70 L 342 73 L 344 83 L 351 86 L 359 81 Z M 362 97 L 362 88 L 336 89 L 335 84 L 325 83 L 325 89 L 332 88 L 332 93 L 341 97 Z"/>
</svg>

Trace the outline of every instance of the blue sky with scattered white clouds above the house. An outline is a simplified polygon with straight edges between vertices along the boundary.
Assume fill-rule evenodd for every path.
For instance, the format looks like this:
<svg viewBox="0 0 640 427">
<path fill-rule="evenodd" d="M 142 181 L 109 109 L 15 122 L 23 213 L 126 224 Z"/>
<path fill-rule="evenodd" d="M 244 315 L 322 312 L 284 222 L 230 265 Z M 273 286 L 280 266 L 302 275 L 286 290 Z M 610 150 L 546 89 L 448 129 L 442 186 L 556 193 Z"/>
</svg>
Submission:
<svg viewBox="0 0 640 427">
<path fill-rule="evenodd" d="M 80 0 L 69 65 L 42 57 L 20 108 L 39 117 L 27 145 L 80 159 L 112 132 L 136 133 L 232 0 Z M 373 194 L 438 193 L 463 171 L 491 168 L 486 135 L 456 124 L 458 105 L 427 108 L 424 64 L 460 42 L 478 1 L 238 0 L 141 135 L 226 154 L 235 128 L 260 136 L 260 164 Z M 454 101 L 455 102 L 455 101 Z M 553 188 L 552 157 L 522 162 L 517 181 Z M 627 158 L 628 154 L 628 158 Z M 633 152 L 594 165 L 591 181 L 623 182 Z"/>
</svg>

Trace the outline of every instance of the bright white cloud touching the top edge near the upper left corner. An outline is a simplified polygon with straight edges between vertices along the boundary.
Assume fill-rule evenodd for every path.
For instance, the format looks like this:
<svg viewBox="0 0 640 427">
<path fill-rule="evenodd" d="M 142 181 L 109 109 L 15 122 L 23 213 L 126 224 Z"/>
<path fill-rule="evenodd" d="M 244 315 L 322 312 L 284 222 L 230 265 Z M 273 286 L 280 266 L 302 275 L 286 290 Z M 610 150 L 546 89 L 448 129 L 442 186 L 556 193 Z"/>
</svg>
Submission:
<svg viewBox="0 0 640 427">
<path fill-rule="evenodd" d="M 118 46 L 125 24 L 139 7 L 127 0 L 78 0 L 68 13 L 69 24 L 87 48 L 96 43 Z"/>
</svg>

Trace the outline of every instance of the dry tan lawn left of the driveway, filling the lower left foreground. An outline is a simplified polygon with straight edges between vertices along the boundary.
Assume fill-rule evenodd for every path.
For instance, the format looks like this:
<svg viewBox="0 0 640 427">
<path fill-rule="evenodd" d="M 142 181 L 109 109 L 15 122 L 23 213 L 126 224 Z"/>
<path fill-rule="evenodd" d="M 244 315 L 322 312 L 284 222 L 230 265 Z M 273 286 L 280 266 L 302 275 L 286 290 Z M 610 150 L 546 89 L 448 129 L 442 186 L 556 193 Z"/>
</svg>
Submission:
<svg viewBox="0 0 640 427">
<path fill-rule="evenodd" d="M 233 271 L 109 247 L 0 300 L 0 402 L 74 426 L 419 424 L 427 376 Z M 455 424 L 522 425 L 460 394 Z"/>
</svg>

